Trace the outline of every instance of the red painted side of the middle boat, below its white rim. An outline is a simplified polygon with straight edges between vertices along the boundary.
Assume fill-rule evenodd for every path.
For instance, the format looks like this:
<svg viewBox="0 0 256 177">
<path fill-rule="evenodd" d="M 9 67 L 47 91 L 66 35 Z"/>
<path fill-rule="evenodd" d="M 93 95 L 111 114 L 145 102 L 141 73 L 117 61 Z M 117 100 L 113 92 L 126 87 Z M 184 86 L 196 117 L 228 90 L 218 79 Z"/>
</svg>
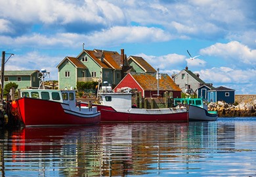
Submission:
<svg viewBox="0 0 256 177">
<path fill-rule="evenodd" d="M 169 114 L 123 113 L 115 110 L 100 110 L 101 122 L 183 122 L 188 121 L 188 112 Z"/>
</svg>

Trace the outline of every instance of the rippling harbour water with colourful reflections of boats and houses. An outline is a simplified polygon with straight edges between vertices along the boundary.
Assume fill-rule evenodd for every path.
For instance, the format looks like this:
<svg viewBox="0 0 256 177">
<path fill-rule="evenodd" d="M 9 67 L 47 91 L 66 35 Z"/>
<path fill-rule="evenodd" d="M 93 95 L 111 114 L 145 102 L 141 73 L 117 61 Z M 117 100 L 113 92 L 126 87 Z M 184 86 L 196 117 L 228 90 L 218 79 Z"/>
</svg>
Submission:
<svg viewBox="0 0 256 177">
<path fill-rule="evenodd" d="M 2 130 L 1 176 L 256 176 L 255 134 L 256 117 Z"/>
</svg>

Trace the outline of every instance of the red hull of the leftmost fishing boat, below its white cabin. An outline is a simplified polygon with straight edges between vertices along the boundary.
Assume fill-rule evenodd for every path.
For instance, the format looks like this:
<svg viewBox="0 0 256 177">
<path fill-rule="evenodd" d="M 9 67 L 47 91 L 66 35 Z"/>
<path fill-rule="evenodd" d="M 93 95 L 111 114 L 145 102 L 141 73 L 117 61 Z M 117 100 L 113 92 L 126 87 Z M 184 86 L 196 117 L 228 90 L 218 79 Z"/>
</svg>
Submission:
<svg viewBox="0 0 256 177">
<path fill-rule="evenodd" d="M 90 117 L 79 117 L 65 113 L 59 102 L 20 98 L 18 118 L 26 126 L 57 126 L 57 125 L 93 125 L 100 122 L 100 114 Z"/>
</svg>

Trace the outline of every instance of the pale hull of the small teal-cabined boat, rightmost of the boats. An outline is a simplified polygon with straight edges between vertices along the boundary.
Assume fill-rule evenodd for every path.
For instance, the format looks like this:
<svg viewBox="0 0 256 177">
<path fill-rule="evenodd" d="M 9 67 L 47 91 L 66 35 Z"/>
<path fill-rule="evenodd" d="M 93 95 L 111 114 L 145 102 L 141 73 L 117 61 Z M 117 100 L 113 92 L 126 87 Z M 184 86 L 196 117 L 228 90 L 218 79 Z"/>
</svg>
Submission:
<svg viewBox="0 0 256 177">
<path fill-rule="evenodd" d="M 216 121 L 218 113 L 210 113 L 207 110 L 198 106 L 190 105 L 188 108 L 189 121 Z"/>
</svg>

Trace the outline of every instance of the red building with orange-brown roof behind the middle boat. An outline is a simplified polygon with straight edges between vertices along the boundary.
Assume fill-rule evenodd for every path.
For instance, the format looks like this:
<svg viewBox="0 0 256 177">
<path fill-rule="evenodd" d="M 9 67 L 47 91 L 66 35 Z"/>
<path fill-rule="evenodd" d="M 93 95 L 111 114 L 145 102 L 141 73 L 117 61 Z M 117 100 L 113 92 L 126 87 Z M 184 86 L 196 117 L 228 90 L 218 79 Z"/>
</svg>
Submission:
<svg viewBox="0 0 256 177">
<path fill-rule="evenodd" d="M 158 85 L 160 95 L 167 91 L 173 92 L 173 98 L 181 98 L 181 88 L 173 82 L 169 75 L 163 73 L 159 83 L 156 73 L 127 73 L 114 88 L 114 91 L 117 92 L 117 89 L 122 87 L 136 88 L 138 92 L 142 92 L 142 97 L 151 98 L 158 96 Z"/>
</svg>

